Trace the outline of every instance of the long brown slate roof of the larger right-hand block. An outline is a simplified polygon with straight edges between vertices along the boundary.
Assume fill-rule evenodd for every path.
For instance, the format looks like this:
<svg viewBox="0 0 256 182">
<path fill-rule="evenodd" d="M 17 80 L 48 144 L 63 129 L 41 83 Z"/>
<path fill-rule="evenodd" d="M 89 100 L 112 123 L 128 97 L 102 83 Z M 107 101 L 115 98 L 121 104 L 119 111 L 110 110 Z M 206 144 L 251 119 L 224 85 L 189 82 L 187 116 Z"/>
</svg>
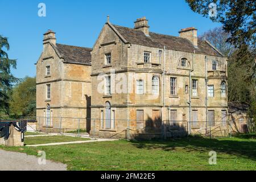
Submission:
<svg viewBox="0 0 256 182">
<path fill-rule="evenodd" d="M 150 32 L 150 36 L 146 36 L 142 31 L 133 28 L 121 27 L 113 25 L 113 27 L 131 44 L 140 46 L 163 48 L 173 51 L 191 52 L 223 57 L 218 51 L 210 46 L 206 41 L 198 40 L 198 48 L 195 48 L 189 40 L 177 36 L 162 35 Z"/>
</svg>

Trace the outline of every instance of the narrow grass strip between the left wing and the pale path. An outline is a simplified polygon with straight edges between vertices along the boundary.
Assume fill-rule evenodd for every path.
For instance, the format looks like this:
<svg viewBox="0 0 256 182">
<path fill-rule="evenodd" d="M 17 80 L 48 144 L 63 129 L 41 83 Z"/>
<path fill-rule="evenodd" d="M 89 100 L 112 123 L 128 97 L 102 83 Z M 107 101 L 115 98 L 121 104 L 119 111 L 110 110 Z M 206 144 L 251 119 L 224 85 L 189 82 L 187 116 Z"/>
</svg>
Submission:
<svg viewBox="0 0 256 182">
<path fill-rule="evenodd" d="M 88 138 L 80 137 L 67 137 L 67 136 L 46 136 L 46 137 L 25 137 L 24 144 L 45 144 L 45 143 L 56 143 L 56 142 L 74 142 L 90 140 Z"/>
</svg>

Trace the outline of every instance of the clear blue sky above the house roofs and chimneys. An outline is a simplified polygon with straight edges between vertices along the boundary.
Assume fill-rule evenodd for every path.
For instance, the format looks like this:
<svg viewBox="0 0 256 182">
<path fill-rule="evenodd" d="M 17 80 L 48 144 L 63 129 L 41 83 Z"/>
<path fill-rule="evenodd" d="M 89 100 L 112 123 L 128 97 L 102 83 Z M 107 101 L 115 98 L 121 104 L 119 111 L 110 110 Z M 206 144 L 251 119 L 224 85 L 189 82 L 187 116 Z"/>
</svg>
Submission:
<svg viewBox="0 0 256 182">
<path fill-rule="evenodd" d="M 46 4 L 46 17 L 38 16 L 38 4 Z M 56 32 L 57 43 L 92 47 L 110 15 L 110 22 L 133 27 L 146 16 L 150 31 L 178 36 L 181 28 L 196 27 L 202 34 L 221 26 L 193 13 L 185 0 L 23 0 L 0 1 L 0 35 L 9 38 L 10 59 L 18 59 L 16 77 L 35 76 L 35 63 L 43 48 L 43 33 Z"/>
</svg>

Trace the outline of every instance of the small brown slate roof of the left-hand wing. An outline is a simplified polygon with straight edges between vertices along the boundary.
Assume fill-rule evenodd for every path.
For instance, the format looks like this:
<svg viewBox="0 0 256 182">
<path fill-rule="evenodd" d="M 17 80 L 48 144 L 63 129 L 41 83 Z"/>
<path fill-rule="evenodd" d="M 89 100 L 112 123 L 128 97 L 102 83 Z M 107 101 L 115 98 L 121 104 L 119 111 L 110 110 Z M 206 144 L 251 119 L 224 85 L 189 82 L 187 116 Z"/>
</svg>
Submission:
<svg viewBox="0 0 256 182">
<path fill-rule="evenodd" d="M 63 56 L 64 63 L 88 64 L 92 63 L 90 55 L 91 48 L 67 46 L 64 44 L 56 44 L 57 51 Z"/>
</svg>

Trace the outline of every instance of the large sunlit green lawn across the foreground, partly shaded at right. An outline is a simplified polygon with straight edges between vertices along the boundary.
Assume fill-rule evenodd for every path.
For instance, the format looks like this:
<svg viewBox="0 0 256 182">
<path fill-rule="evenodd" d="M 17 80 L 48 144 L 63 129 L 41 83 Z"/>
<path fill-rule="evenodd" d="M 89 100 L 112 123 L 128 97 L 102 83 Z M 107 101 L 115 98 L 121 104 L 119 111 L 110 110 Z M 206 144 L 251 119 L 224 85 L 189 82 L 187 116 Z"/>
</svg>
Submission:
<svg viewBox="0 0 256 182">
<path fill-rule="evenodd" d="M 69 170 L 256 170 L 256 140 L 250 137 L 0 148 L 28 155 L 43 150 Z M 209 165 L 209 151 L 217 152 L 217 165 Z"/>
</svg>

